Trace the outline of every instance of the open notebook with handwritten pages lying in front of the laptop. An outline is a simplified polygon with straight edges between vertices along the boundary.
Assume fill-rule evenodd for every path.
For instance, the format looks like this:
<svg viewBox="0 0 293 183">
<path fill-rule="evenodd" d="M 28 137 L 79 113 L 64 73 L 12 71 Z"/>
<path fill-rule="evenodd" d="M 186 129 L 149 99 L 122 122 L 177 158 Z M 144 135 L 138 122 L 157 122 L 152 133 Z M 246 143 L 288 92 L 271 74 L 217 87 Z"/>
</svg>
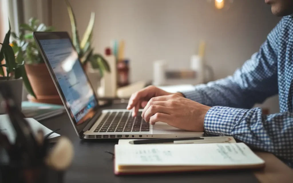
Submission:
<svg viewBox="0 0 293 183">
<path fill-rule="evenodd" d="M 144 174 L 264 167 L 244 143 L 115 145 L 114 173 Z"/>
</svg>

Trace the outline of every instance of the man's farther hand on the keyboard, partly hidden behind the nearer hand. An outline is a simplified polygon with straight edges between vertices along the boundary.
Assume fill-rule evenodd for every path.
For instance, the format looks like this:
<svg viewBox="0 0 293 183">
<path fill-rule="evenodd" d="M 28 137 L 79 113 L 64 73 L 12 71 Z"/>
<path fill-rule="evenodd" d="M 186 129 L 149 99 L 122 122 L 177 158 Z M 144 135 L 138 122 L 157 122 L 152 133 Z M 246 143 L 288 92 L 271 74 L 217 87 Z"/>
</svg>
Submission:
<svg viewBox="0 0 293 183">
<path fill-rule="evenodd" d="M 144 108 L 147 105 L 147 102 L 153 97 L 159 97 L 163 95 L 172 95 L 177 94 L 183 96 L 181 93 L 169 93 L 164 90 L 161 90 L 155 86 L 148 86 L 134 94 L 131 95 L 127 109 L 132 109 L 132 116 L 136 116 L 140 107 Z"/>
</svg>

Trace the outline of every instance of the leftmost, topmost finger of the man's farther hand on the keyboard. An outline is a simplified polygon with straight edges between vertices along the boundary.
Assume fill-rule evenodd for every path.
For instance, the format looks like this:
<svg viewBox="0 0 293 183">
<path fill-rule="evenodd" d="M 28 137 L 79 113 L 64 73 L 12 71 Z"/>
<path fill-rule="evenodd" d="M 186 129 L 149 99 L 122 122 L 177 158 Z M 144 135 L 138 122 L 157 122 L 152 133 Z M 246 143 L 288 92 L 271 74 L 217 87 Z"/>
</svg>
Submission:
<svg viewBox="0 0 293 183">
<path fill-rule="evenodd" d="M 154 86 L 148 86 L 134 94 L 131 95 L 129 102 L 128 102 L 128 106 L 127 109 L 130 110 L 132 109 L 132 107 L 134 107 L 137 102 L 139 100 L 141 100 L 142 98 L 151 98 L 152 96 L 155 96 L 156 94 L 156 90 L 158 88 L 154 87 Z"/>
</svg>

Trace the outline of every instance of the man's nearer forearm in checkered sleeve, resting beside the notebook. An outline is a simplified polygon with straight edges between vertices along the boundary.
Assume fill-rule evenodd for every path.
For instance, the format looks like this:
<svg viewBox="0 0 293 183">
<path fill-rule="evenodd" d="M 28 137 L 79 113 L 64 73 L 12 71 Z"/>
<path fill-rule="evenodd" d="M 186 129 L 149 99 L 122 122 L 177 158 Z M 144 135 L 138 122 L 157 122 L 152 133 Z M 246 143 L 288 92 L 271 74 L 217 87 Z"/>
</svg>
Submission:
<svg viewBox="0 0 293 183">
<path fill-rule="evenodd" d="M 260 108 L 215 106 L 207 112 L 204 127 L 207 133 L 233 136 L 293 166 L 293 113 L 262 115 Z"/>
</svg>

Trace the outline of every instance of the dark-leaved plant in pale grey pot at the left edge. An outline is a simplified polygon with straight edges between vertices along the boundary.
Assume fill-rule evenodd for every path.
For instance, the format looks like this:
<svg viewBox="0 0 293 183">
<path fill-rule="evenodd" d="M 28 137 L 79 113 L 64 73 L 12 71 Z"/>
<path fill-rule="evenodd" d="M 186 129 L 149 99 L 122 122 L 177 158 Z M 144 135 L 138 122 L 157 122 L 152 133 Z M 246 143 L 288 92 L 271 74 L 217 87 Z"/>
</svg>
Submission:
<svg viewBox="0 0 293 183">
<path fill-rule="evenodd" d="M 4 37 L 0 50 L 0 86 L 9 86 L 15 97 L 16 105 L 21 109 L 22 102 L 22 86 L 23 82 L 32 95 L 34 95 L 30 83 L 26 76 L 24 61 L 22 59 L 22 52 L 14 54 L 14 49 L 20 49 L 16 45 L 10 44 L 11 27 L 9 23 L 9 30 Z M 4 109 L 0 107 L 0 113 L 5 113 Z"/>
</svg>

